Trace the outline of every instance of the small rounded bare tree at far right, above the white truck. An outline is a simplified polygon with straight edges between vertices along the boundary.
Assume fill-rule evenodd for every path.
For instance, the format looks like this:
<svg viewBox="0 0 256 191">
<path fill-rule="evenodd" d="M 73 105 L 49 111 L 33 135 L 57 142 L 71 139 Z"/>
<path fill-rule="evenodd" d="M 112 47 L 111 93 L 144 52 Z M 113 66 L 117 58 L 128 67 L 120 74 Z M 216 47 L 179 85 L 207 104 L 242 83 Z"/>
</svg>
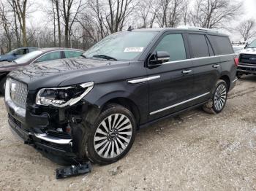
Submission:
<svg viewBox="0 0 256 191">
<path fill-rule="evenodd" d="M 255 25 L 255 20 L 249 19 L 242 21 L 236 28 L 236 31 L 244 38 L 244 42 L 256 35 Z"/>
</svg>

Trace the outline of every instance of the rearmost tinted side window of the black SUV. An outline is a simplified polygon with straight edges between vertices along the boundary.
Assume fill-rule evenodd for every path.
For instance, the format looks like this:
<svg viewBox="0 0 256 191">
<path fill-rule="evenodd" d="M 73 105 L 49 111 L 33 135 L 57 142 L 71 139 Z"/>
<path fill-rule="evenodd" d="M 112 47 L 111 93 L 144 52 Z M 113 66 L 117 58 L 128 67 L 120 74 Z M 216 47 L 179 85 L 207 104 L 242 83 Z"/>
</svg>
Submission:
<svg viewBox="0 0 256 191">
<path fill-rule="evenodd" d="M 217 55 L 233 54 L 233 48 L 230 43 L 230 39 L 226 36 L 212 36 L 210 35 L 211 44 L 214 45 Z"/>
</svg>

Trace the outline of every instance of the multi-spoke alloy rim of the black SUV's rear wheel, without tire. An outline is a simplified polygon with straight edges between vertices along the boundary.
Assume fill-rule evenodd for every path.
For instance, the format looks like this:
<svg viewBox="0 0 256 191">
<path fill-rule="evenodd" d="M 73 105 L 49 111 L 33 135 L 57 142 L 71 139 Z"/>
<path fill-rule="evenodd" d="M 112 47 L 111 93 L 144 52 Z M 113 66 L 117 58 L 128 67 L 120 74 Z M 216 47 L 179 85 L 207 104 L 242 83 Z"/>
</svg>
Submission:
<svg viewBox="0 0 256 191">
<path fill-rule="evenodd" d="M 225 106 L 225 102 L 227 99 L 227 90 L 225 85 L 221 84 L 219 87 L 217 87 L 217 90 L 214 95 L 214 106 L 215 109 L 218 111 L 221 111 L 223 109 L 223 106 Z"/>
</svg>

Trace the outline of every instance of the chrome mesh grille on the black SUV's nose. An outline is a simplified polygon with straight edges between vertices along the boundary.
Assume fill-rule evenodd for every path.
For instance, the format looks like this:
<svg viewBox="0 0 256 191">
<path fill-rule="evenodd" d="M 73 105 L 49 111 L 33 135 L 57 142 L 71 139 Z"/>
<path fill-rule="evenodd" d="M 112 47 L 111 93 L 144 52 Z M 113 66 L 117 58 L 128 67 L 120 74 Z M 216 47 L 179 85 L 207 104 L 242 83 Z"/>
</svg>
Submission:
<svg viewBox="0 0 256 191">
<path fill-rule="evenodd" d="M 10 98 L 13 103 L 25 109 L 27 95 L 28 88 L 26 84 L 10 79 Z"/>
</svg>

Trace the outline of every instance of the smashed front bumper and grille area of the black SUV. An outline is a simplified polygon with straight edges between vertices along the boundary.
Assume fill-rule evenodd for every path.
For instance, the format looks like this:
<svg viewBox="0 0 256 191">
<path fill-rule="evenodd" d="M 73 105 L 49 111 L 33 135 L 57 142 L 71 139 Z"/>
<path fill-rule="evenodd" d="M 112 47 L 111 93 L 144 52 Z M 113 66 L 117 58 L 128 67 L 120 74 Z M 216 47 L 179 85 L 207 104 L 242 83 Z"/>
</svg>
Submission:
<svg viewBox="0 0 256 191">
<path fill-rule="evenodd" d="M 12 132 L 56 163 L 83 163 L 87 160 L 84 144 L 88 139 L 89 126 L 94 124 L 100 112 L 99 107 L 83 100 L 61 108 L 38 105 L 35 104 L 35 91 L 28 91 L 23 96 L 27 90 L 25 85 L 15 80 L 12 85 L 7 82 L 5 92 Z M 19 87 L 17 93 L 16 85 Z"/>
</svg>

